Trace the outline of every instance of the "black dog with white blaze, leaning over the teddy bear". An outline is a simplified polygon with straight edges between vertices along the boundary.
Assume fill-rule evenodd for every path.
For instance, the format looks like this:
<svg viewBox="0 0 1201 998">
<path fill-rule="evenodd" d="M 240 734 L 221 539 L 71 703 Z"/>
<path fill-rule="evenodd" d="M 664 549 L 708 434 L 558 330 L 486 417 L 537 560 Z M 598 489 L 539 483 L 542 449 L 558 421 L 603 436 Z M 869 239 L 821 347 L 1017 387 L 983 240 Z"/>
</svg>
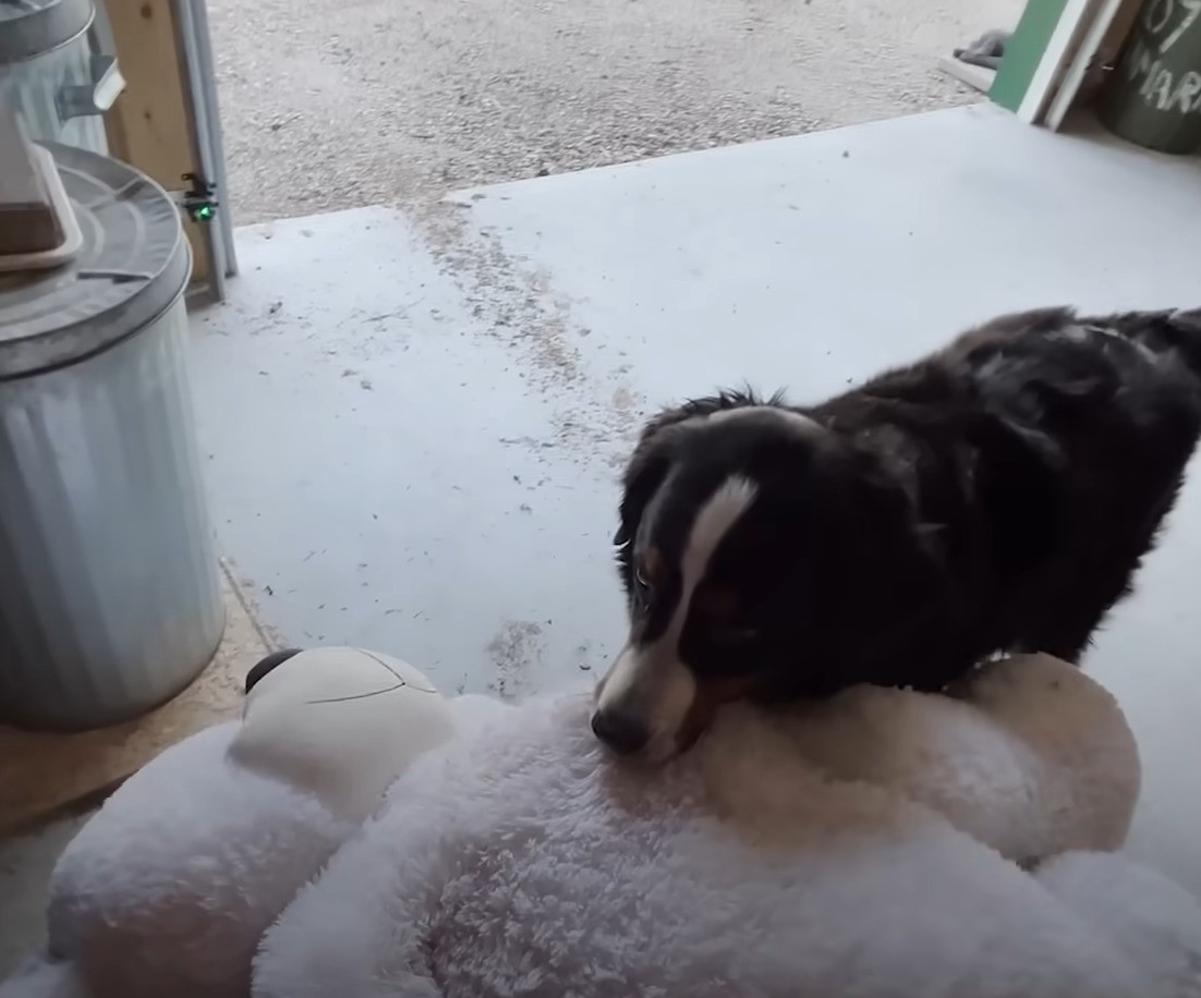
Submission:
<svg viewBox="0 0 1201 998">
<path fill-rule="evenodd" d="M 592 728 L 662 760 L 730 700 L 1078 663 L 1199 434 L 1201 311 L 1006 315 L 820 405 L 667 410 L 623 477 L 631 628 Z"/>
</svg>

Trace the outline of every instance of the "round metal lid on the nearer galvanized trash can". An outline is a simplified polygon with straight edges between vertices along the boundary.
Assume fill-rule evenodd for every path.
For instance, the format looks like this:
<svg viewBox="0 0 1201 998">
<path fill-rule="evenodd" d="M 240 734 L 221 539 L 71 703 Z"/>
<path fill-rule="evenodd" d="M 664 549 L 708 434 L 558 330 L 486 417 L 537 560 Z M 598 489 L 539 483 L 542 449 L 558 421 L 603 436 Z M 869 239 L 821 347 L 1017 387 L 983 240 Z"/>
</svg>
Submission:
<svg viewBox="0 0 1201 998">
<path fill-rule="evenodd" d="M 78 253 L 53 270 L 0 274 L 0 378 L 82 360 L 153 322 L 183 292 L 191 251 L 179 210 L 133 167 L 59 143 Z"/>
</svg>

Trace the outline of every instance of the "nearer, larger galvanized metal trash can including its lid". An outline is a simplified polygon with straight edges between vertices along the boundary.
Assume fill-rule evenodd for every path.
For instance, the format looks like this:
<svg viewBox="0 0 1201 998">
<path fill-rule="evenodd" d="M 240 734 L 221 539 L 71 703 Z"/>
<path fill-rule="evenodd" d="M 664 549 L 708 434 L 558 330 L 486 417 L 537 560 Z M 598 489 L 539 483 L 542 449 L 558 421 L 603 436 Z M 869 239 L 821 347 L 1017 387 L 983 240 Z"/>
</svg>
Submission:
<svg viewBox="0 0 1201 998">
<path fill-rule="evenodd" d="M 47 148 L 84 241 L 0 274 L 0 723 L 83 729 L 183 689 L 225 610 L 178 209 L 124 163 Z"/>
</svg>

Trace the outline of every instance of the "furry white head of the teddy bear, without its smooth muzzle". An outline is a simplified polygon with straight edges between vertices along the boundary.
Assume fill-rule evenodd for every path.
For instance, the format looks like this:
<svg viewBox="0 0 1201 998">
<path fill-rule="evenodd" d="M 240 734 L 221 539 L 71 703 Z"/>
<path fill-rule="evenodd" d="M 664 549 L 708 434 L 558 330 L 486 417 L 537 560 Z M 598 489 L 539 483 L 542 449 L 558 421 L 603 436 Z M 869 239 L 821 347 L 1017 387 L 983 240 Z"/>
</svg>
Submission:
<svg viewBox="0 0 1201 998">
<path fill-rule="evenodd" d="M 49 957 L 70 961 L 71 976 L 88 982 L 80 994 L 246 994 L 263 932 L 358 829 L 313 796 L 231 763 L 238 728 L 209 728 L 167 749 L 59 860 Z"/>
</svg>

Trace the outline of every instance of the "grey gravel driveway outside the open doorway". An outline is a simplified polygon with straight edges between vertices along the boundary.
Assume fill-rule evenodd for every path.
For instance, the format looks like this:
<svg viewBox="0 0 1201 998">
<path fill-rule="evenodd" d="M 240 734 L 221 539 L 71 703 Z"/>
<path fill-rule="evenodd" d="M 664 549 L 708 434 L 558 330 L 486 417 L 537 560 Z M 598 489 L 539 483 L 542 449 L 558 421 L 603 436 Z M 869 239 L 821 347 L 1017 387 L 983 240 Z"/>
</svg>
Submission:
<svg viewBox="0 0 1201 998">
<path fill-rule="evenodd" d="M 1021 0 L 210 0 L 239 223 L 976 100 Z"/>
</svg>

